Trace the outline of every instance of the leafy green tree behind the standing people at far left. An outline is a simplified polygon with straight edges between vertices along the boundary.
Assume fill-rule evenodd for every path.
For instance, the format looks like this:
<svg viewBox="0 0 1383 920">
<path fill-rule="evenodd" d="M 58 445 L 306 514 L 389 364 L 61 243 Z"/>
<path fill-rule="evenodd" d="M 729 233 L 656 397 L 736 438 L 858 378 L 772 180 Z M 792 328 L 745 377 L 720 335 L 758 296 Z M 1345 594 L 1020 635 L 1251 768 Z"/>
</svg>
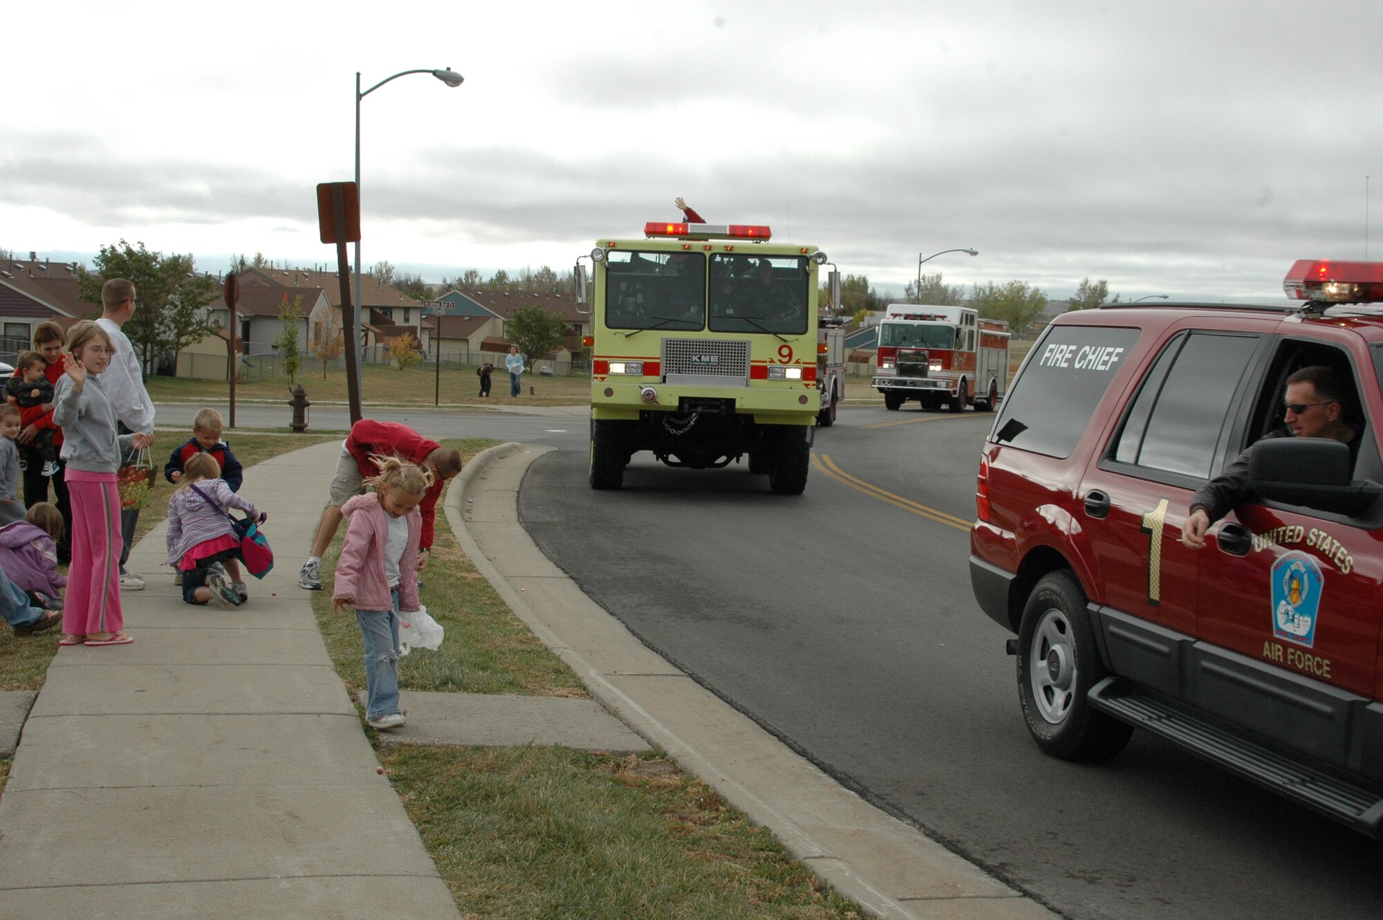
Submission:
<svg viewBox="0 0 1383 920">
<path fill-rule="evenodd" d="M 160 356 L 220 332 L 221 324 L 206 311 L 216 297 L 216 279 L 198 275 L 191 255 L 165 256 L 149 252 L 142 242 L 136 248 L 122 239 L 116 246 L 101 246 L 93 263 L 94 273 L 77 266 L 77 291 L 89 303 L 101 303 L 101 285 L 108 278 L 134 282 L 134 317 L 122 331 L 144 368 Z"/>
</svg>

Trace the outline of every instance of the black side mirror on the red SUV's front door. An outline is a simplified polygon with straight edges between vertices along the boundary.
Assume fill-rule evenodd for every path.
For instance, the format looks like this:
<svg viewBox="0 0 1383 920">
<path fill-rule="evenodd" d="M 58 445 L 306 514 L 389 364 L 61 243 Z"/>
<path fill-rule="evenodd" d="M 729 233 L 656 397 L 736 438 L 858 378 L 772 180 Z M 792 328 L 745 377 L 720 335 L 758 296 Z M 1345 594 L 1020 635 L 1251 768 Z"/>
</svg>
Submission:
<svg viewBox="0 0 1383 920">
<path fill-rule="evenodd" d="M 1249 484 L 1261 498 L 1317 510 L 1359 515 L 1377 488 L 1350 481 L 1350 445 L 1325 437 L 1259 441 L 1249 454 Z"/>
</svg>

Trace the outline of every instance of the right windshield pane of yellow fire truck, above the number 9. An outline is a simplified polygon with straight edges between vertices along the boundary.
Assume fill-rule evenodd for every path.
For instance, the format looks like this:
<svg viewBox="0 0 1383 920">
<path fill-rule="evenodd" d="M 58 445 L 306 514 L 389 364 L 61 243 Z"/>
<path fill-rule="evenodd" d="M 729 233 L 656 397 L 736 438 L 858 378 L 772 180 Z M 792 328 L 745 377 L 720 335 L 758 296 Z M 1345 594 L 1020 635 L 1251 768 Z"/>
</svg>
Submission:
<svg viewBox="0 0 1383 920">
<path fill-rule="evenodd" d="M 711 256 L 711 331 L 802 335 L 810 293 L 805 256 Z"/>
</svg>

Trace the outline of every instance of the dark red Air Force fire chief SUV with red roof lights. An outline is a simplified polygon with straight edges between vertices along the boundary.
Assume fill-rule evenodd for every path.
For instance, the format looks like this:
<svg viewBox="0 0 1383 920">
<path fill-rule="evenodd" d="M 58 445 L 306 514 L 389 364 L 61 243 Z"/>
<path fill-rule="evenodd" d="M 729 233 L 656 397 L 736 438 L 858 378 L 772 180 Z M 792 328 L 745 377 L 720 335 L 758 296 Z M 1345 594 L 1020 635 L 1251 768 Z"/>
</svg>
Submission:
<svg viewBox="0 0 1383 920">
<path fill-rule="evenodd" d="M 1058 317 L 985 443 L 971 582 L 1048 754 L 1141 728 L 1379 837 L 1383 263 L 1283 286 L 1304 303 Z M 1322 367 L 1342 392 L 1292 404 Z M 1282 436 L 1314 410 L 1353 441 Z M 1192 495 L 1231 463 L 1243 499 L 1191 548 Z"/>
</svg>

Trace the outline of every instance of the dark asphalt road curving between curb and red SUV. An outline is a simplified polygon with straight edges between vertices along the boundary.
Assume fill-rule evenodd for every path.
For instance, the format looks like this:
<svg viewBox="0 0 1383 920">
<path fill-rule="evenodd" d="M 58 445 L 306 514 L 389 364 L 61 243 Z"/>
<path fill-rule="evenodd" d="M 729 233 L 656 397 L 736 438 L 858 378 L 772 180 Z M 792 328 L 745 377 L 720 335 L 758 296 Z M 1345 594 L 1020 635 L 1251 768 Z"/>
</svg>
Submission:
<svg viewBox="0 0 1383 920">
<path fill-rule="evenodd" d="M 802 497 L 647 454 L 596 493 L 571 426 L 545 441 L 561 450 L 530 470 L 520 515 L 651 647 L 1065 916 L 1377 916 L 1383 844 L 1158 739 L 1102 765 L 1030 743 L 1007 634 L 965 564 L 989 421 L 842 411 Z"/>
</svg>

